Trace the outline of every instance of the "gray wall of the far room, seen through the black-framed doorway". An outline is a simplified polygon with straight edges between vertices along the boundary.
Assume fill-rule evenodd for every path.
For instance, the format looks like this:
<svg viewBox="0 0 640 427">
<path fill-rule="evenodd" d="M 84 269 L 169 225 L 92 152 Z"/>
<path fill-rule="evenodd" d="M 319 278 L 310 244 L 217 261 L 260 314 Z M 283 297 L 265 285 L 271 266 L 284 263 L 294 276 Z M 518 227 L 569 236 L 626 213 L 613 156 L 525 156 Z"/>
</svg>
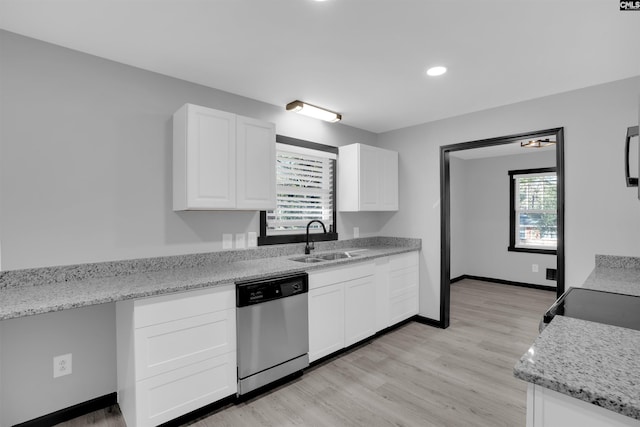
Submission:
<svg viewBox="0 0 640 427">
<path fill-rule="evenodd" d="M 451 177 L 451 278 L 463 274 L 555 286 L 545 270 L 555 255 L 509 252 L 508 171 L 555 166 L 555 151 L 454 159 Z M 537 273 L 531 265 L 538 264 Z"/>
</svg>

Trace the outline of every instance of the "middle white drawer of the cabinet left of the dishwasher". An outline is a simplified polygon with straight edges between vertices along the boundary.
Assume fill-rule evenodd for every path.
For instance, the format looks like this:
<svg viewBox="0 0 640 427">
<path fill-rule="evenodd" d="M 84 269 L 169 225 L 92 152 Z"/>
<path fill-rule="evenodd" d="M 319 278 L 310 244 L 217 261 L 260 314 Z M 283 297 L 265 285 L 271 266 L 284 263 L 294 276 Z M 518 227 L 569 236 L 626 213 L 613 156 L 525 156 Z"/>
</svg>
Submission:
<svg viewBox="0 0 640 427">
<path fill-rule="evenodd" d="M 149 378 L 236 348 L 235 308 L 135 330 L 136 379 Z"/>
</svg>

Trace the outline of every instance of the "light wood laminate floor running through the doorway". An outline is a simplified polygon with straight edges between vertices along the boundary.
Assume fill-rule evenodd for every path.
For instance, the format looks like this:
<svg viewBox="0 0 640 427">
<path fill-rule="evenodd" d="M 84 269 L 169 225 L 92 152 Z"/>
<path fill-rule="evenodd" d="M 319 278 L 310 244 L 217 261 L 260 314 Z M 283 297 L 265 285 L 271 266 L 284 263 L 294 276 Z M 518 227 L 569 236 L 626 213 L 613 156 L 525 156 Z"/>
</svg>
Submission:
<svg viewBox="0 0 640 427">
<path fill-rule="evenodd" d="M 451 286 L 451 326 L 408 323 L 195 427 L 525 425 L 516 361 L 538 335 L 550 291 L 475 280 Z M 116 407 L 60 424 L 125 426 Z"/>
</svg>

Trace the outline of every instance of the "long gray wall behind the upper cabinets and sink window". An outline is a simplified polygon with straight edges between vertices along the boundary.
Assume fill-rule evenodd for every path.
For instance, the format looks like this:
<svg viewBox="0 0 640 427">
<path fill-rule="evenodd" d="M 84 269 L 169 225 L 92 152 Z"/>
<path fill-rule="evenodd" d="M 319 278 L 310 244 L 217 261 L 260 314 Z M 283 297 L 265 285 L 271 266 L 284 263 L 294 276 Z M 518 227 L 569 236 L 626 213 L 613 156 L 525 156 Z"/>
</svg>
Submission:
<svg viewBox="0 0 640 427">
<path fill-rule="evenodd" d="M 3 270 L 217 251 L 222 233 L 258 231 L 256 212 L 171 210 L 171 116 L 186 102 L 268 120 L 294 138 L 376 143 L 375 134 L 284 106 L 4 31 L 0 64 Z M 385 220 L 341 215 L 337 231 L 377 235 Z M 0 330 L 0 425 L 116 391 L 113 304 Z M 74 374 L 53 381 L 53 356 L 68 352 Z"/>
</svg>

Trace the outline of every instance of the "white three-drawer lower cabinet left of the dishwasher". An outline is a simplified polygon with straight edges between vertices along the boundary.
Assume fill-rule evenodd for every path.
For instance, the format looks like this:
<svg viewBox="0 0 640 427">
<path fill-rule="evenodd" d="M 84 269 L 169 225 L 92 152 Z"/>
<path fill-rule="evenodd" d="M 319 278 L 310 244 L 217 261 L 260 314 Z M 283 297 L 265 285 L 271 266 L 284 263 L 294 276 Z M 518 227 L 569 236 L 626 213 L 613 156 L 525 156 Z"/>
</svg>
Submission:
<svg viewBox="0 0 640 427">
<path fill-rule="evenodd" d="M 116 312 L 118 403 L 129 427 L 235 394 L 234 285 L 121 301 Z"/>
</svg>

